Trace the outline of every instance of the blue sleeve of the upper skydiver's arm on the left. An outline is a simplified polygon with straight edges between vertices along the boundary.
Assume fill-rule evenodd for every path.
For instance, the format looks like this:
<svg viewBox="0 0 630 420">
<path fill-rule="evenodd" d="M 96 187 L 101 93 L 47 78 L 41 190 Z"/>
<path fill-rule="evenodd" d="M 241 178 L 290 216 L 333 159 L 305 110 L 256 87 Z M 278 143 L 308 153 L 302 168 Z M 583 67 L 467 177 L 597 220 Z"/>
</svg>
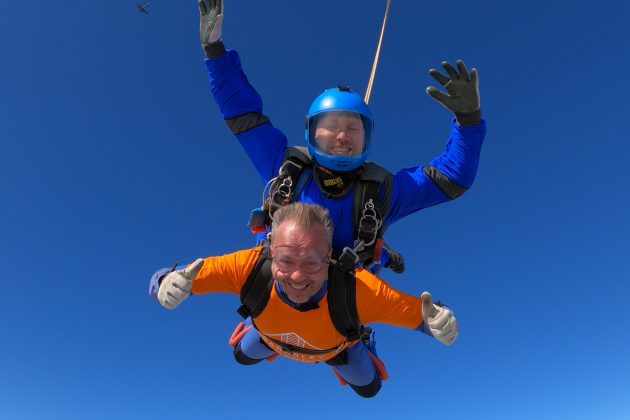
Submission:
<svg viewBox="0 0 630 420">
<path fill-rule="evenodd" d="M 278 174 L 287 147 L 286 136 L 262 113 L 262 99 L 247 80 L 236 51 L 227 50 L 205 63 L 219 111 L 266 184 Z"/>
</svg>

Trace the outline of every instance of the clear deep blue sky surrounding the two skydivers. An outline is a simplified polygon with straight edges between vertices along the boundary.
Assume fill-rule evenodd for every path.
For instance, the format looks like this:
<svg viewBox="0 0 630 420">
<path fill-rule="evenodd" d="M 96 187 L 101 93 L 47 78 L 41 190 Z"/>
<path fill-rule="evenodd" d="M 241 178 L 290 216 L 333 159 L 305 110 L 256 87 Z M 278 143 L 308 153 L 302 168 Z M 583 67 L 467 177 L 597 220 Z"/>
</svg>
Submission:
<svg viewBox="0 0 630 420">
<path fill-rule="evenodd" d="M 292 144 L 323 89 L 363 92 L 385 1 L 225 0 L 265 113 Z M 479 71 L 475 184 L 393 225 L 411 292 L 461 324 L 446 348 L 377 326 L 391 379 L 362 400 L 329 367 L 237 365 L 237 297 L 167 311 L 174 260 L 253 243 L 260 185 L 208 92 L 192 0 L 0 4 L 0 418 L 630 418 L 627 1 L 393 1 L 372 160 L 442 150 L 431 67 Z"/>
</svg>

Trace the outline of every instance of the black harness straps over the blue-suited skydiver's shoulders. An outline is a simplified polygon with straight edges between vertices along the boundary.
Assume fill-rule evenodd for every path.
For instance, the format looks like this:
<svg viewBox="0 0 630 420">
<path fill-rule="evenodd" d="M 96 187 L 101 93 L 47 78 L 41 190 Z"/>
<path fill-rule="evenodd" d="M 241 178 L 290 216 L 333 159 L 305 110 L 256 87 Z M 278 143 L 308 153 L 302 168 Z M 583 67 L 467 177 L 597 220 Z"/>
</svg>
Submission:
<svg viewBox="0 0 630 420">
<path fill-rule="evenodd" d="M 313 161 L 306 147 L 287 147 L 278 176 L 271 179 L 263 190 L 262 207 L 254 209 L 250 215 L 248 225 L 252 232 L 261 233 L 270 228 L 273 223 L 273 213 L 278 208 L 295 201 L 312 176 Z M 405 269 L 402 255 L 393 251 L 383 241 L 383 235 L 387 229 L 384 218 L 389 210 L 392 192 L 391 172 L 374 162 L 365 162 L 363 170 L 354 183 L 352 224 L 356 239 L 350 251 L 358 257 L 358 265 L 378 274 L 381 269 L 381 251 L 385 247 L 390 255 L 387 268 L 396 273 L 402 273 Z M 383 187 L 382 199 L 381 186 Z M 330 196 L 326 192 L 324 194 Z M 264 240 L 260 245 L 264 245 Z"/>
</svg>

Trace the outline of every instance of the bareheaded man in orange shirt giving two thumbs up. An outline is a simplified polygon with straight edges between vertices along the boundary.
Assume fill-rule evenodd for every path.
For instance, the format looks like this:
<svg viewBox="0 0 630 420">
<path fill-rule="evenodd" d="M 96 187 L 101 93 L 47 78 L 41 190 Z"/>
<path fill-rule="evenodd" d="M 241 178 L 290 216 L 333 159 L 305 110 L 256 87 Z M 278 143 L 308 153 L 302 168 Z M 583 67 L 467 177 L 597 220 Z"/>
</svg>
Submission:
<svg viewBox="0 0 630 420">
<path fill-rule="evenodd" d="M 343 256 L 331 260 L 332 233 L 326 209 L 290 204 L 274 215 L 268 257 L 261 257 L 267 251 L 256 247 L 159 270 L 151 280 L 150 293 L 168 309 L 190 293 L 240 294 L 243 302 L 242 289 L 251 289 L 250 274 L 258 270 L 259 261 L 270 260 L 267 294 L 255 299 L 262 305 L 257 310 L 248 307 L 246 313 L 251 316 L 231 339 L 236 361 L 252 365 L 280 354 L 305 363 L 325 362 L 342 384 L 349 384 L 362 397 L 373 397 L 387 372 L 376 355 L 374 333 L 365 324 L 383 322 L 416 329 L 450 345 L 457 338 L 457 321 L 450 309 L 433 304 L 427 292 L 420 297 L 406 294 L 352 263 L 343 266 Z M 340 278 L 344 270 L 346 277 Z M 331 308 L 339 305 L 333 294 L 338 294 L 339 287 L 348 287 L 339 286 L 341 281 L 353 285 L 347 292 L 352 299 L 343 305 L 349 307 L 352 302 L 355 306 L 349 309 L 356 311 L 357 335 L 340 332 L 333 319 L 338 316 Z"/>
</svg>

